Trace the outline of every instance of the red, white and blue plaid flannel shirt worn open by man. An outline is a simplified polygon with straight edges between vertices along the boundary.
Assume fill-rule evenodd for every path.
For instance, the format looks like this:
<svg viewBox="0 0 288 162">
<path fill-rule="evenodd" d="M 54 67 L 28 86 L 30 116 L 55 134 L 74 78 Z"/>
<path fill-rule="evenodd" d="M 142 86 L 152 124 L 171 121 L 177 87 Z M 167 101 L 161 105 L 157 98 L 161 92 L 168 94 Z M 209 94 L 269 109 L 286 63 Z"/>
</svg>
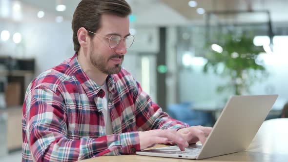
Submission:
<svg viewBox="0 0 288 162">
<path fill-rule="evenodd" d="M 23 104 L 22 161 L 133 154 L 140 150 L 137 131 L 188 126 L 163 112 L 126 70 L 106 83 L 112 135 L 105 135 L 104 91 L 84 73 L 77 53 L 33 80 Z"/>
</svg>

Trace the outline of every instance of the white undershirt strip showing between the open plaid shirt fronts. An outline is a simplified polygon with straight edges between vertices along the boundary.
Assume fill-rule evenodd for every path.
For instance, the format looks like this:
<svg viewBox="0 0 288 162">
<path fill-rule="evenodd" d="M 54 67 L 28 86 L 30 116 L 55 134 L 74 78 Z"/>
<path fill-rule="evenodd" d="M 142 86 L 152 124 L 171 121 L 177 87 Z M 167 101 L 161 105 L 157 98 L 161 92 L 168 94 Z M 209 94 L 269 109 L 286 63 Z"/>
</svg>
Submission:
<svg viewBox="0 0 288 162">
<path fill-rule="evenodd" d="M 102 99 L 102 107 L 103 107 L 103 116 L 104 116 L 104 122 L 105 122 L 105 128 L 106 128 L 106 135 L 110 135 L 110 134 L 113 134 L 113 129 L 112 129 L 110 113 L 108 110 L 108 91 L 107 91 L 106 82 L 101 86 L 101 88 L 105 92 L 105 96 Z"/>
</svg>

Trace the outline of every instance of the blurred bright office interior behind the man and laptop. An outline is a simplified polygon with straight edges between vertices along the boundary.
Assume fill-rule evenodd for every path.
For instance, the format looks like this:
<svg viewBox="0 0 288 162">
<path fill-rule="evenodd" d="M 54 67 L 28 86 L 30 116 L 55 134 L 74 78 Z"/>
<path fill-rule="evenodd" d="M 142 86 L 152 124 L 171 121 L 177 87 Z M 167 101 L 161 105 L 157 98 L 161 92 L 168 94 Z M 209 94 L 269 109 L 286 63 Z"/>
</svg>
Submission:
<svg viewBox="0 0 288 162">
<path fill-rule="evenodd" d="M 288 101 L 288 0 L 127 0 L 135 35 L 123 67 L 172 117 L 213 126 L 231 95 Z M 80 0 L 0 0 L 0 161 L 21 160 L 27 85 L 72 57 Z"/>
</svg>

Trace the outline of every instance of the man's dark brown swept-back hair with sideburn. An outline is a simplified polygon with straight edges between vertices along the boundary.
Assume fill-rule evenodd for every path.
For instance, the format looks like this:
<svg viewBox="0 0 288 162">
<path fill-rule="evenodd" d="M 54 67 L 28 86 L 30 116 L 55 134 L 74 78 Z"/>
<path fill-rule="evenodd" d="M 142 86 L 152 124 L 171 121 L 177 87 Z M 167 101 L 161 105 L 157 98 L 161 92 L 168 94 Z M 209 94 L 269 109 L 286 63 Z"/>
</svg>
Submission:
<svg viewBox="0 0 288 162">
<path fill-rule="evenodd" d="M 102 14 L 126 17 L 131 14 L 131 7 L 125 0 L 82 0 L 73 15 L 72 30 L 74 51 L 78 52 L 80 44 L 77 32 L 81 27 L 86 30 L 97 32 L 101 28 Z M 91 38 L 94 37 L 90 32 Z"/>
</svg>

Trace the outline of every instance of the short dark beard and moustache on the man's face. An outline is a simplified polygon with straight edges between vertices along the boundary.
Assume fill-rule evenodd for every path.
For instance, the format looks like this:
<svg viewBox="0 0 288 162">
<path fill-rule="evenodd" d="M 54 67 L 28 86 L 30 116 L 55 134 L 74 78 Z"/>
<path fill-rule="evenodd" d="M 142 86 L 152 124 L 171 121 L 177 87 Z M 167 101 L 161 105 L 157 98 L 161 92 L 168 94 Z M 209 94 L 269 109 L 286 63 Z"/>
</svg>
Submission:
<svg viewBox="0 0 288 162">
<path fill-rule="evenodd" d="M 93 55 L 92 51 L 90 52 L 89 57 L 90 57 L 91 64 L 94 67 L 96 67 L 97 69 L 99 69 L 102 73 L 107 74 L 107 75 L 119 73 L 121 71 L 121 65 L 122 65 L 123 60 L 124 60 L 124 55 L 115 54 L 113 56 L 110 56 L 108 58 L 108 60 L 107 60 L 104 57 L 104 55 L 98 55 L 98 56 Z M 115 64 L 115 65 L 113 65 L 113 67 L 107 66 L 108 65 L 108 61 L 110 59 L 114 59 L 114 58 L 122 59 L 121 63 Z"/>
</svg>

